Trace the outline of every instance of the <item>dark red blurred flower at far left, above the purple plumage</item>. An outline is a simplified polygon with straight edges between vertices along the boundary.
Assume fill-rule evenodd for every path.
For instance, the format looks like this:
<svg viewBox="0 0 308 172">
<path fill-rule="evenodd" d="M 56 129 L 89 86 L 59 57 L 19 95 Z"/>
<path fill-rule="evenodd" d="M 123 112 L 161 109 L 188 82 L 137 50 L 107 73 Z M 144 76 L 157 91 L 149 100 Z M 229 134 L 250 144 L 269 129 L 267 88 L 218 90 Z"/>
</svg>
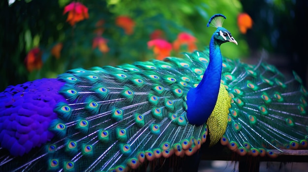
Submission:
<svg viewBox="0 0 308 172">
<path fill-rule="evenodd" d="M 34 69 L 41 69 L 43 66 L 42 51 L 39 48 L 31 49 L 25 58 L 25 64 L 30 72 Z"/>
</svg>

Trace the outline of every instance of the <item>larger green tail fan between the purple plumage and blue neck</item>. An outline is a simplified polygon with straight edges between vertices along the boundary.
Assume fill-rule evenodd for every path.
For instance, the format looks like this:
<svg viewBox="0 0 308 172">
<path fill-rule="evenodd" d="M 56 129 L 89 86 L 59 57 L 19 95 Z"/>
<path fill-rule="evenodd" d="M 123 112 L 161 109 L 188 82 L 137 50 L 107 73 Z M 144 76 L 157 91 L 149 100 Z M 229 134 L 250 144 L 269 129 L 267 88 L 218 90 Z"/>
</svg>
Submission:
<svg viewBox="0 0 308 172">
<path fill-rule="evenodd" d="M 186 93 L 209 62 L 166 58 L 61 74 L 49 131 L 56 136 L 22 157 L 0 157 L 4 171 L 123 171 L 145 160 L 192 155 L 208 129 L 186 120 Z M 204 57 L 201 57 L 204 56 Z M 193 69 L 193 70 L 191 70 Z"/>
</svg>

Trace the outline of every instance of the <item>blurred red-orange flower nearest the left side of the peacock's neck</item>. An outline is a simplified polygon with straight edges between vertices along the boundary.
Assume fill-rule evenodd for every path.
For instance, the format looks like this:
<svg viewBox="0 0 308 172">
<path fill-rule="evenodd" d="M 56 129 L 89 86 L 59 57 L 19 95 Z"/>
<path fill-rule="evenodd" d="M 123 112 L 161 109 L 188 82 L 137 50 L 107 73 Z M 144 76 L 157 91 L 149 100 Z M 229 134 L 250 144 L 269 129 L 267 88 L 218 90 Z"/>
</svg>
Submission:
<svg viewBox="0 0 308 172">
<path fill-rule="evenodd" d="M 197 46 L 195 45 L 195 42 L 197 42 L 197 39 L 186 33 L 181 32 L 178 35 L 178 38 L 173 42 L 173 47 L 176 50 L 179 50 L 182 45 L 187 45 L 189 51 L 193 51 L 197 49 Z"/>
</svg>

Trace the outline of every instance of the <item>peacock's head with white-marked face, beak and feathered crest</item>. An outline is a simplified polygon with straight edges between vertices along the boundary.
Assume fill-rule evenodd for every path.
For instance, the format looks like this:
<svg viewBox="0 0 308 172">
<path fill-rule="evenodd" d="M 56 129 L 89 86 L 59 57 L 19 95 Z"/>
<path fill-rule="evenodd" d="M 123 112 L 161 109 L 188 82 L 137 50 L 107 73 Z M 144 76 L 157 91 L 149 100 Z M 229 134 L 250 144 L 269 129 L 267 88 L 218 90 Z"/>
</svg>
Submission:
<svg viewBox="0 0 308 172">
<path fill-rule="evenodd" d="M 216 27 L 216 31 L 213 34 L 213 38 L 215 39 L 215 43 L 219 46 L 225 42 L 232 42 L 238 45 L 238 42 L 233 38 L 231 32 L 226 28 L 222 27 L 222 23 L 226 19 L 226 17 L 222 14 L 215 14 L 211 17 L 208 23 L 208 27 L 211 25 Z"/>
</svg>

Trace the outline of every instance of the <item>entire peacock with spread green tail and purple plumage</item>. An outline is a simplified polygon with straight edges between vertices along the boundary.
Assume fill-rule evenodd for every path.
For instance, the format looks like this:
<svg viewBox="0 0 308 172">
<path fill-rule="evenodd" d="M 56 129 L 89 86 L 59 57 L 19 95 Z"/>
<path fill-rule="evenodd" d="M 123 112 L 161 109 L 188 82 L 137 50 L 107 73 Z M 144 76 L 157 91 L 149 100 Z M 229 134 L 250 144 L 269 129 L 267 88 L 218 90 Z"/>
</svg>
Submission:
<svg viewBox="0 0 308 172">
<path fill-rule="evenodd" d="M 307 89 L 260 60 L 222 57 L 238 45 L 222 23 L 209 47 L 119 66 L 72 69 L 0 93 L 0 171 L 129 171 L 220 142 L 240 155 L 307 149 Z"/>
</svg>

